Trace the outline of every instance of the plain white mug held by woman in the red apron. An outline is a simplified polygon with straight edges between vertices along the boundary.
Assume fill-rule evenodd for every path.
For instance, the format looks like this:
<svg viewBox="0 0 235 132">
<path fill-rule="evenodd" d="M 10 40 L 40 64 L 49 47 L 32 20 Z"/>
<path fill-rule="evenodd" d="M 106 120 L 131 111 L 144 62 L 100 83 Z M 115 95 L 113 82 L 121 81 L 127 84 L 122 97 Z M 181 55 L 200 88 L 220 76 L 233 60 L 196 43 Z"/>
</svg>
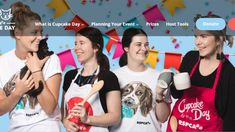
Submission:
<svg viewBox="0 0 235 132">
<path fill-rule="evenodd" d="M 188 72 L 175 74 L 173 78 L 175 88 L 177 90 L 185 90 L 191 87 L 191 81 Z"/>
</svg>

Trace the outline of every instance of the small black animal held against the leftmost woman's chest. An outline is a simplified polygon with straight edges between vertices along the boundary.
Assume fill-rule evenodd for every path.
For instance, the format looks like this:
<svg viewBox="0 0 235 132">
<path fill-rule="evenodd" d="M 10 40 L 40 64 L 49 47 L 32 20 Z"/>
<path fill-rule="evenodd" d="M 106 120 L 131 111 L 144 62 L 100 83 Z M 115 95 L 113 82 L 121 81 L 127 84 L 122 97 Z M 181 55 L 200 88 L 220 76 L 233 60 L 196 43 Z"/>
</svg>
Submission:
<svg viewBox="0 0 235 132">
<path fill-rule="evenodd" d="M 50 56 L 50 55 L 52 55 L 54 53 L 54 52 L 48 50 L 49 48 L 48 48 L 48 45 L 47 45 L 47 39 L 48 38 L 42 39 L 40 41 L 40 43 L 39 43 L 39 49 L 37 51 L 37 55 L 38 55 L 38 58 L 40 60 L 42 60 L 45 57 Z M 27 71 L 28 71 L 28 67 L 27 66 L 24 66 L 20 70 L 20 79 L 22 79 L 25 76 Z M 30 73 L 30 75 L 31 74 L 32 73 Z M 29 96 L 32 96 L 32 97 L 36 97 L 38 94 L 40 94 L 42 92 L 42 90 L 43 90 L 43 83 L 42 83 L 42 81 L 39 81 L 38 88 L 33 87 L 26 94 L 28 94 Z"/>
</svg>

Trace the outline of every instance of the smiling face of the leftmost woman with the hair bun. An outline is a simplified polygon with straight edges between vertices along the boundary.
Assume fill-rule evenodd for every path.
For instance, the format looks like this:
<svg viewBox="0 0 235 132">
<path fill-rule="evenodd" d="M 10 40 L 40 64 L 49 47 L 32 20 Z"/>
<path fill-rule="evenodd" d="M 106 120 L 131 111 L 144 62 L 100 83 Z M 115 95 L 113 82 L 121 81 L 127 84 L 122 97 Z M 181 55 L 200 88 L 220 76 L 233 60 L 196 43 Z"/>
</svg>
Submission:
<svg viewBox="0 0 235 132">
<path fill-rule="evenodd" d="M 35 22 L 39 21 L 30 21 L 23 30 L 16 29 L 17 43 L 28 52 L 37 52 L 42 39 L 42 27 L 36 26 Z"/>
</svg>

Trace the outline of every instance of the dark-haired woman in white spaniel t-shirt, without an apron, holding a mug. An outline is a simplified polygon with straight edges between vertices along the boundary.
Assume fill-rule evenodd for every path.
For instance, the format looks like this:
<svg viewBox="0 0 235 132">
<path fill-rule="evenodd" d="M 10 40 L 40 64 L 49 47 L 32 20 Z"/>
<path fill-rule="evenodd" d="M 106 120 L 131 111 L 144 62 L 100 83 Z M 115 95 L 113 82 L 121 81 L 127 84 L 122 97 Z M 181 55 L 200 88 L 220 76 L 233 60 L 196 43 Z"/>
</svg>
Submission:
<svg viewBox="0 0 235 132">
<path fill-rule="evenodd" d="M 122 120 L 111 131 L 161 131 L 170 105 L 163 101 L 163 89 L 157 87 L 159 73 L 144 64 L 149 50 L 147 34 L 129 28 L 123 34 L 122 46 L 121 68 L 114 71 L 122 89 Z"/>
</svg>

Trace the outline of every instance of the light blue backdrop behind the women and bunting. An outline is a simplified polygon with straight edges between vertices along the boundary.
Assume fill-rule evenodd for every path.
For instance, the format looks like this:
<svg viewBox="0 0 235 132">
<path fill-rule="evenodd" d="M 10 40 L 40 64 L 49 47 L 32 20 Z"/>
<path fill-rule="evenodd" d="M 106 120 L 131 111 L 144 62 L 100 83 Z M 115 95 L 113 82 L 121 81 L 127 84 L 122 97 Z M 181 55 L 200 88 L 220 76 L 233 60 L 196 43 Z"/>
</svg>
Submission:
<svg viewBox="0 0 235 132">
<path fill-rule="evenodd" d="M 32 10 L 39 13 L 44 22 L 69 22 L 73 19 L 74 14 L 70 11 L 65 12 L 61 17 L 53 18 L 54 10 L 48 8 L 46 5 L 51 0 L 21 0 L 25 4 L 29 5 Z M 127 0 L 96 0 L 96 3 L 87 2 L 86 5 L 82 5 L 79 0 L 69 0 L 71 8 L 75 11 L 77 15 L 82 17 L 87 22 L 127 22 L 128 20 L 137 17 L 140 24 L 145 25 L 145 20 L 141 13 L 146 10 L 147 7 L 158 4 L 159 9 L 167 19 L 167 21 L 188 21 L 192 22 L 192 18 L 195 14 L 203 14 L 206 15 L 208 12 L 213 12 L 220 16 L 223 16 L 225 20 L 229 20 L 230 18 L 235 16 L 234 11 L 234 0 L 184 0 L 186 8 L 177 9 L 174 16 L 170 16 L 167 10 L 161 7 L 161 0 L 132 0 L 132 6 L 127 7 Z M 9 6 L 15 1 L 10 0 L 1 0 L 0 1 L 0 9 L 9 9 Z M 39 3 L 40 2 L 40 3 Z M 117 6 L 118 5 L 118 6 Z M 92 10 L 91 10 L 92 9 Z M 0 19 L 1 21 L 1 19 Z M 190 25 L 192 26 L 192 25 Z M 111 29 L 107 27 L 100 27 L 103 33 L 107 30 Z M 156 70 L 162 70 L 164 66 L 164 53 L 165 52 L 177 52 L 181 54 L 187 53 L 187 51 L 195 48 L 194 45 L 194 37 L 191 34 L 191 29 L 169 29 L 170 34 L 165 34 L 165 29 L 163 30 L 153 30 L 149 27 L 143 27 L 145 31 L 149 34 L 149 42 L 150 47 L 154 46 L 155 50 L 158 50 L 160 54 L 158 55 L 159 62 L 156 65 Z M 116 27 L 116 30 L 119 35 L 122 34 L 123 28 Z M 64 33 L 63 35 L 56 36 L 56 33 Z M 49 29 L 45 29 L 45 34 L 49 34 L 49 48 L 53 50 L 55 53 L 59 53 L 66 49 L 72 49 L 74 47 L 74 32 L 65 31 L 63 27 L 58 27 L 55 31 L 51 32 Z M 163 33 L 164 35 L 157 36 L 159 33 Z M 230 34 L 235 34 L 234 31 L 230 31 Z M 9 31 L 1 34 L 0 31 L 0 54 L 4 54 L 15 47 L 15 40 L 9 37 Z M 172 42 L 172 38 L 176 39 L 176 42 Z M 176 44 L 179 44 L 179 48 L 175 48 Z M 104 50 L 104 53 L 109 57 L 111 69 L 118 68 L 118 60 L 112 59 L 113 53 L 115 50 L 115 46 L 111 49 L 110 53 L 107 53 Z M 235 65 L 235 46 L 230 49 L 227 46 L 224 48 L 225 53 L 231 54 L 229 59 L 233 65 Z M 76 56 L 74 55 L 76 59 Z M 79 63 L 77 66 L 79 66 Z M 66 67 L 64 73 L 73 67 Z M 63 73 L 63 75 L 64 75 Z M 60 98 L 59 102 L 61 102 L 61 93 L 62 88 L 60 90 Z M 5 132 L 7 131 L 7 127 L 9 124 L 8 114 L 5 114 L 0 117 L 0 130 Z M 164 126 L 165 127 L 165 126 Z M 63 127 L 62 127 L 63 129 Z M 64 131 L 64 129 L 63 129 Z"/>
</svg>

